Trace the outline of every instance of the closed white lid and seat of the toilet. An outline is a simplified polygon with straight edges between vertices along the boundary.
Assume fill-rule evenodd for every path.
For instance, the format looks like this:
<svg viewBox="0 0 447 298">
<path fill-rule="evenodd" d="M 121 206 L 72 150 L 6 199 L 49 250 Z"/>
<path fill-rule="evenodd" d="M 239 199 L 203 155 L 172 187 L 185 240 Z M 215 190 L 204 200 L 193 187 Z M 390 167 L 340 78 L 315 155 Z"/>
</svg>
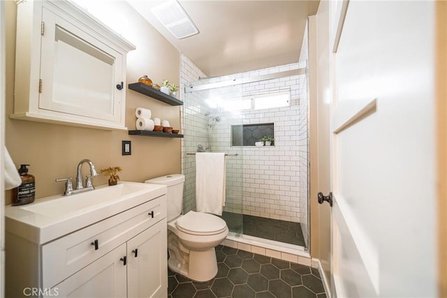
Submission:
<svg viewBox="0 0 447 298">
<path fill-rule="evenodd" d="M 203 212 L 189 211 L 177 220 L 177 229 L 188 234 L 219 234 L 226 228 L 222 218 Z"/>
</svg>

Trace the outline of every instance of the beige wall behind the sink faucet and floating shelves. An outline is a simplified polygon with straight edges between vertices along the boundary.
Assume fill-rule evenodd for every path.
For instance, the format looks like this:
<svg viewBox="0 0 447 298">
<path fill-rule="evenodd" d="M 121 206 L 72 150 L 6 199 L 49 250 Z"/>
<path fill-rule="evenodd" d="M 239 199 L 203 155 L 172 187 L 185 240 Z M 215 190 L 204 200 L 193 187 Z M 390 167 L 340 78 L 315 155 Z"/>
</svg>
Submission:
<svg viewBox="0 0 447 298">
<path fill-rule="evenodd" d="M 109 5 L 109 4 L 108 4 Z M 151 25 L 124 1 L 110 2 L 127 20 L 123 36 L 137 49 L 128 55 L 127 82 L 137 82 L 148 75 L 154 82 L 168 79 L 179 84 L 179 52 Z M 15 1 L 5 2 L 6 13 L 6 147 L 16 165 L 29 163 L 29 172 L 36 176 L 36 198 L 56 195 L 64 191 L 62 183 L 54 179 L 76 176 L 76 167 L 82 158 L 89 158 L 99 170 L 119 165 L 124 170 L 124 181 L 139 181 L 163 174 L 181 172 L 180 139 L 130 136 L 127 131 L 102 131 L 55 124 L 9 119 L 13 113 L 15 68 Z M 152 117 L 168 119 L 179 128 L 178 106 L 170 106 L 126 91 L 126 126 L 135 129 L 135 107 L 147 107 Z M 122 140 L 131 140 L 132 155 L 122 156 Z M 84 165 L 83 172 L 88 172 Z M 94 178 L 94 185 L 107 183 L 102 175 Z M 6 204 L 11 193 L 6 193 Z"/>
</svg>

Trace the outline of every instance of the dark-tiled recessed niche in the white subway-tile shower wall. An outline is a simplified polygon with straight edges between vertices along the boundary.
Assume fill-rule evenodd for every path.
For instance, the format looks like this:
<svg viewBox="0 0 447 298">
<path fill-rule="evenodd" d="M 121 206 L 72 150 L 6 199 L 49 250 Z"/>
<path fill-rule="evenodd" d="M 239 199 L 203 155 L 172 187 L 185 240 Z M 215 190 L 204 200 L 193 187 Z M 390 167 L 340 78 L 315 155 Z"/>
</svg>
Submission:
<svg viewBox="0 0 447 298">
<path fill-rule="evenodd" d="M 237 124 L 231 126 L 231 146 L 255 146 L 265 135 L 274 137 L 274 124 Z"/>
</svg>

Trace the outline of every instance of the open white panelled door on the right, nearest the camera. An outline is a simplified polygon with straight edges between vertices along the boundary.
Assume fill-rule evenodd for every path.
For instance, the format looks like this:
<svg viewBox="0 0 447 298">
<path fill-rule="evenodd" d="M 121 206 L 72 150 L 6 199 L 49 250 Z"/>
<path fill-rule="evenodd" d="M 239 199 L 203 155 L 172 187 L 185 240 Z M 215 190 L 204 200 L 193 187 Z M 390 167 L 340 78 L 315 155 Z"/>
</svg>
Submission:
<svg viewBox="0 0 447 298">
<path fill-rule="evenodd" d="M 331 4 L 334 297 L 437 297 L 434 6 Z"/>
</svg>

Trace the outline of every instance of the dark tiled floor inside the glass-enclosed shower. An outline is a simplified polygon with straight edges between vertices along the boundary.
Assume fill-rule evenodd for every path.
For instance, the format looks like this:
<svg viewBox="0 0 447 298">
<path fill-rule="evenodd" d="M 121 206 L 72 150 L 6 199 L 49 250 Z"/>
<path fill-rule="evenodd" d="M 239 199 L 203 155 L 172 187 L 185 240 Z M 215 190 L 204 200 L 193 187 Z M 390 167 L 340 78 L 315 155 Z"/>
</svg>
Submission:
<svg viewBox="0 0 447 298">
<path fill-rule="evenodd" d="M 223 212 L 222 218 L 226 221 L 230 232 L 240 233 L 240 214 Z M 245 235 L 305 246 L 300 223 L 244 214 L 242 216 L 242 229 Z"/>
</svg>

